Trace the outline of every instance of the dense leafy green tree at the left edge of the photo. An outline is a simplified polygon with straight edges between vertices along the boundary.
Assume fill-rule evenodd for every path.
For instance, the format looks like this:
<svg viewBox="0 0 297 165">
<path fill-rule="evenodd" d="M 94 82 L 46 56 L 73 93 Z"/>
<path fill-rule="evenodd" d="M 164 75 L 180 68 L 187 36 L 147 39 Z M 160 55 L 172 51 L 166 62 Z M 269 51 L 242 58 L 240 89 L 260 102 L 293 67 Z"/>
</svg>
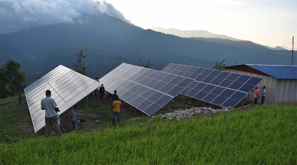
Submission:
<svg viewBox="0 0 297 165">
<path fill-rule="evenodd" d="M 23 93 L 23 89 L 26 83 L 26 77 L 24 72 L 20 72 L 21 65 L 14 60 L 9 60 L 0 73 L 0 84 L 1 84 L 1 98 L 8 96 L 19 96 Z"/>
</svg>

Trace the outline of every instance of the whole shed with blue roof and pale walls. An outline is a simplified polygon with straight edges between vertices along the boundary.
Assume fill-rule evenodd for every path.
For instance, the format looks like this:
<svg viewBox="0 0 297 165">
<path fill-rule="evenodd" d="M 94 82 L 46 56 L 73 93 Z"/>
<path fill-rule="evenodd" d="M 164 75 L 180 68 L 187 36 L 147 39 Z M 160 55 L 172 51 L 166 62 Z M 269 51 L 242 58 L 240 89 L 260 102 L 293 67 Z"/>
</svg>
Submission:
<svg viewBox="0 0 297 165">
<path fill-rule="evenodd" d="M 261 93 L 262 87 L 266 86 L 265 103 L 297 104 L 297 66 L 242 64 L 226 66 L 225 71 L 262 77 L 259 89 Z M 246 98 L 254 100 L 254 92 Z"/>
</svg>

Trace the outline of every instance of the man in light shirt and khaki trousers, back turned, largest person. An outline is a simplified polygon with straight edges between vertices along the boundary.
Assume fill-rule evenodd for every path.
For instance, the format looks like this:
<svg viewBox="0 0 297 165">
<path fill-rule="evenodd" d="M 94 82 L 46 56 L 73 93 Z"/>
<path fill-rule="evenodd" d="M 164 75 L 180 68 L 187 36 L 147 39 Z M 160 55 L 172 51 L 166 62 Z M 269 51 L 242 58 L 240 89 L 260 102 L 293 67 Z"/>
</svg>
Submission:
<svg viewBox="0 0 297 165">
<path fill-rule="evenodd" d="M 47 136 L 50 136 L 52 131 L 52 124 L 55 128 L 55 132 L 58 136 L 61 136 L 60 127 L 58 124 L 57 116 L 55 109 L 57 104 L 54 99 L 50 98 L 50 90 L 45 91 L 46 98 L 41 100 L 41 109 L 45 110 L 45 133 Z"/>
</svg>

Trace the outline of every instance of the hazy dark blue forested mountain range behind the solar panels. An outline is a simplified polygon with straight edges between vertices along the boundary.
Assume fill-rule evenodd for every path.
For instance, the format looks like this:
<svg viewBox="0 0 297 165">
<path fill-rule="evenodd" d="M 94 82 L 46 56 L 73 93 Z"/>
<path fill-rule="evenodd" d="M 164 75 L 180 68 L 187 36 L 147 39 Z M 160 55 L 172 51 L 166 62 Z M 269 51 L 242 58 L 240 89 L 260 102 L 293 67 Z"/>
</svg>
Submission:
<svg viewBox="0 0 297 165">
<path fill-rule="evenodd" d="M 290 65 L 291 51 L 271 50 L 251 41 L 221 38 L 183 38 L 111 17 L 105 13 L 83 15 L 82 23 L 60 23 L 1 34 L 0 64 L 9 59 L 22 65 L 27 80 L 43 76 L 58 65 L 73 69 L 75 53 L 83 50 L 87 75 L 102 77 L 122 62 L 140 65 L 150 60 L 152 69 L 168 63 L 211 67 L 209 62 L 226 65 Z M 296 53 L 296 52 L 295 52 Z M 296 61 L 295 61 L 296 65 Z"/>
</svg>

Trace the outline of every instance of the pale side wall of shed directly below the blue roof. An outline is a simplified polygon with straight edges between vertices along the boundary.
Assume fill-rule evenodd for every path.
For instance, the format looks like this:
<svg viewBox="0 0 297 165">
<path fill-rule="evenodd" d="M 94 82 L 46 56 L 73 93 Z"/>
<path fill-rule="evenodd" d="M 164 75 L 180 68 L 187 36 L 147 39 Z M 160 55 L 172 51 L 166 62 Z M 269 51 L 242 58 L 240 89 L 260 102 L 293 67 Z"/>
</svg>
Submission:
<svg viewBox="0 0 297 165">
<path fill-rule="evenodd" d="M 274 103 L 297 104 L 297 80 L 277 79 Z"/>
</svg>

